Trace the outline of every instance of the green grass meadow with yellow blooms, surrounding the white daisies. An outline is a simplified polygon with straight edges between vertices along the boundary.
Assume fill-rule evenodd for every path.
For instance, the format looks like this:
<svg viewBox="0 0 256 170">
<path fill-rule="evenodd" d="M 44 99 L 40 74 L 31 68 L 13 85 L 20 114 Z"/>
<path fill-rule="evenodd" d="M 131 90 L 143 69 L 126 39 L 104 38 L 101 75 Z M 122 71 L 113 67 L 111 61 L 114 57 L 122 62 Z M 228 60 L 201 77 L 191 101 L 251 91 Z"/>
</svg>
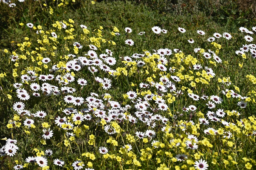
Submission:
<svg viewBox="0 0 256 170">
<path fill-rule="evenodd" d="M 187 6 L 187 11 L 183 9 L 184 15 L 182 15 L 180 11 L 170 10 L 170 6 L 165 5 L 165 2 L 152 2 L 154 2 L 152 4 L 157 4 L 163 8 L 156 10 L 157 5 L 153 7 L 150 4 L 145 5 L 144 1 L 141 3 L 136 3 L 136 1 L 102 1 L 95 2 L 95 4 L 90 1 L 70 1 L 68 5 L 58 7 L 60 2 L 47 2 L 46 6 L 44 6 L 42 1 L 27 0 L 24 3 L 17 2 L 17 6 L 14 8 L 9 8 L 6 4 L 0 3 L 0 8 L 3 9 L 0 13 L 3 23 L 0 28 L 0 62 L 2 63 L 0 74 L 6 74 L 6 76 L 3 75 L 0 78 L 0 138 L 16 139 L 16 145 L 19 148 L 14 156 L 1 156 L 0 167 L 2 169 L 13 169 L 16 160 L 17 164 L 27 166 L 24 169 L 47 169 L 47 167 L 40 168 L 37 163 L 28 164 L 25 162 L 28 156 L 38 156 L 41 151 L 44 153 L 47 149 L 53 151 L 53 154 L 47 157 L 48 169 L 73 169 L 72 163 L 79 159 L 83 161 L 83 169 L 88 167 L 94 169 L 193 169 L 195 168 L 195 162 L 198 161 L 196 153 L 201 155 L 199 159 L 207 161 L 208 169 L 249 169 L 250 165 L 252 166 L 251 169 L 255 168 L 255 135 L 252 135 L 255 134 L 256 130 L 254 118 L 256 113 L 256 90 L 255 84 L 252 82 L 253 80 L 255 81 L 255 77 L 252 77 L 250 81 L 247 75 L 255 75 L 256 59 L 251 57 L 250 52 L 246 52 L 246 59 L 235 53 L 242 45 L 250 44 L 244 40 L 244 35 L 247 34 L 241 33 L 239 27 L 244 26 L 251 30 L 255 26 L 252 25 L 253 19 L 242 20 L 241 16 L 240 19 L 237 19 L 235 18 L 238 15 L 236 13 L 236 15 L 230 14 L 229 17 L 224 15 L 226 22 L 223 22 L 224 19 L 221 19 L 221 16 L 224 13 L 219 15 L 214 13 L 214 15 L 208 16 L 207 11 L 213 10 L 210 6 L 204 10 L 199 8 L 196 13 L 189 10 L 190 6 Z M 226 6 L 223 6 L 222 9 L 225 10 L 226 8 Z M 232 8 L 235 8 L 235 6 Z M 50 14 L 51 9 L 53 9 L 52 14 Z M 226 12 L 229 12 L 229 9 L 226 9 Z M 61 27 L 58 29 L 56 25 L 53 25 L 60 21 L 67 24 L 66 29 Z M 34 24 L 35 29 L 26 26 L 30 22 Z M 20 23 L 24 25 L 20 25 Z M 84 33 L 80 24 L 88 27 L 88 34 Z M 42 28 L 38 28 L 38 25 Z M 167 33 L 153 33 L 151 28 L 154 26 L 167 30 Z M 114 27 L 119 29 L 120 35 L 111 35 L 111 32 L 117 32 Z M 125 27 L 130 27 L 132 32 L 125 33 Z M 186 32 L 179 32 L 178 27 L 185 28 Z M 101 29 L 102 33 L 100 33 L 99 29 Z M 36 31 L 40 30 L 43 30 L 44 33 L 39 32 L 37 34 Z M 199 35 L 197 30 L 203 30 L 206 34 Z M 141 31 L 144 31 L 145 34 L 138 35 Z M 55 32 L 58 36 L 54 41 L 51 39 L 51 32 Z M 210 49 L 217 53 L 216 50 L 218 48 L 207 41 L 207 38 L 212 37 L 215 32 L 220 34 L 228 32 L 232 35 L 231 40 L 226 40 L 225 38 L 216 38 L 215 40 L 216 43 L 221 45 L 217 55 L 222 60 L 222 63 L 214 63 L 215 60 L 213 58 L 206 59 L 202 53 L 194 52 L 194 48 L 203 48 L 206 52 Z M 254 39 L 256 38 L 254 34 L 251 36 Z M 25 37 L 29 38 L 29 40 L 27 38 L 26 40 Z M 99 39 L 92 42 L 92 37 Z M 105 43 L 102 38 L 105 39 Z M 190 38 L 195 41 L 193 44 L 188 43 Z M 126 39 L 132 39 L 134 45 L 126 45 L 124 43 Z M 31 44 L 25 43 L 24 47 L 20 48 L 24 42 L 30 42 Z M 77 54 L 74 51 L 74 42 L 79 42 L 83 46 L 82 49 L 78 49 Z M 79 71 L 70 71 L 73 72 L 75 81 L 67 85 L 55 80 L 46 81 L 51 85 L 57 86 L 59 90 L 62 86 L 72 87 L 76 89 L 74 93 L 66 94 L 60 90 L 60 95 L 57 96 L 53 94 L 46 95 L 42 90 L 39 90 L 41 97 L 38 98 L 32 96 L 34 91 L 31 90 L 30 84 L 33 82 L 22 82 L 21 76 L 28 70 L 34 70 L 38 76 L 41 74 L 53 74 L 55 77 L 58 75 L 64 76 L 67 72 L 65 69 L 60 69 L 56 72 L 50 72 L 49 69 L 54 64 L 63 63 L 62 66 L 64 66 L 68 61 L 79 56 L 86 56 L 85 54 L 90 50 L 89 44 L 93 43 L 94 45 L 100 43 L 96 51 L 98 56 L 101 53 L 106 53 L 105 49 L 113 52 L 112 57 L 116 59 L 116 64 L 110 65 L 110 68 L 115 70 L 114 75 L 100 70 L 99 66 L 95 66 L 99 71 L 92 74 L 87 69 L 88 66 L 83 66 Z M 145 65 L 143 67 L 138 67 L 136 63 L 132 62 L 127 65 L 122 62 L 126 56 L 132 56 L 135 53 L 147 54 L 145 53 L 146 51 L 153 54 L 154 50 L 160 48 L 169 48 L 173 53 L 170 56 L 165 56 L 168 60 L 165 65 L 167 71 L 161 71 L 157 68 L 157 57 L 159 57 L 157 55 L 145 55 L 138 59 L 133 58 L 133 61 L 144 61 Z M 4 49 L 8 50 L 8 52 L 6 53 Z M 182 52 L 175 53 L 173 49 L 180 49 Z M 9 58 L 14 52 L 19 55 L 19 60 L 16 61 L 18 67 Z M 74 54 L 75 57 L 67 57 L 69 54 Z M 192 58 L 188 59 L 188 55 L 191 55 Z M 26 56 L 26 59 L 24 59 L 24 56 Z M 48 57 L 51 61 L 46 64 L 40 63 L 42 61 L 40 56 L 42 58 Z M 191 62 L 191 60 L 201 64 L 202 69 L 194 70 L 193 61 Z M 242 68 L 239 64 L 243 64 Z M 216 75 L 209 78 L 202 72 L 204 67 L 212 68 Z M 169 68 L 176 70 L 171 72 Z M 127 74 L 125 74 L 125 71 L 127 71 Z M 197 71 L 200 72 L 200 75 L 196 74 Z M 18 77 L 13 76 L 15 72 Z M 129 116 L 136 117 L 136 109 L 135 103 L 127 98 L 126 93 L 131 90 L 137 92 L 137 99 L 139 97 L 143 98 L 147 93 L 152 93 L 155 97 L 159 97 L 160 94 L 157 93 L 156 87 L 148 86 L 143 89 L 140 87 L 140 83 L 149 84 L 149 77 L 155 83 L 159 83 L 160 78 L 164 75 L 175 83 L 177 90 L 182 90 L 184 94 L 176 95 L 168 89 L 161 95 L 169 109 L 167 111 L 157 110 L 158 104 L 151 100 L 147 111 L 151 112 L 152 116 L 159 114 L 166 117 L 167 123 L 163 124 L 161 121 L 153 120 L 146 124 L 138 118 L 136 118 L 136 123 L 128 121 Z M 111 88 L 102 88 L 101 83 L 95 80 L 97 76 L 111 80 Z M 175 82 L 171 76 L 178 76 L 182 80 Z M 218 82 L 218 78 L 224 80 L 225 77 L 228 77 L 231 82 L 230 86 Z M 77 83 L 79 78 L 86 79 L 88 84 L 86 86 L 79 85 Z M 201 78 L 201 82 L 205 80 L 207 83 L 196 82 L 196 78 L 199 80 Z M 63 79 L 65 80 L 65 77 Z M 38 78 L 36 78 L 35 82 L 40 86 L 44 83 Z M 195 87 L 191 86 L 193 82 L 196 82 Z M 22 88 L 27 90 L 30 95 L 29 100 L 24 101 L 18 98 L 16 89 L 13 86 L 14 83 L 23 84 Z M 237 105 L 240 101 L 239 98 L 223 95 L 222 90 L 225 89 L 234 90 L 235 93 L 242 97 L 246 96 L 247 98 L 243 100 L 248 101 L 247 106 L 241 108 Z M 223 102 L 216 104 L 216 108 L 209 109 L 206 103 L 211 100 L 200 99 L 194 101 L 188 94 L 191 90 L 193 94 L 200 97 L 207 95 L 210 98 L 211 95 L 217 95 L 223 99 Z M 88 101 L 85 101 L 81 106 L 66 103 L 64 101 L 66 95 L 86 99 L 91 96 L 91 93 L 97 93 L 99 95 L 97 98 L 101 99 L 104 104 L 104 108 L 93 107 L 104 110 L 107 114 L 111 112 L 108 109 L 114 107 L 113 105 L 111 106 L 111 100 L 119 102 L 122 107 L 129 104 L 131 109 L 122 112 L 121 122 L 117 120 L 104 122 L 96 116 L 96 111 L 92 109 L 88 112 L 91 114 L 92 119 L 81 122 L 74 122 L 72 120 L 74 115 L 66 115 L 62 112 L 68 107 L 73 107 L 78 111 L 89 107 Z M 8 98 L 8 95 L 11 98 L 10 96 Z M 111 95 L 109 100 L 107 99 L 108 95 Z M 26 105 L 25 109 L 31 113 L 45 111 L 47 113 L 46 117 L 19 115 L 13 109 L 13 104 L 18 101 L 23 101 Z M 183 107 L 188 108 L 190 105 L 196 106 L 196 111 L 183 112 Z M 234 123 L 236 126 L 232 124 L 224 126 L 221 121 L 210 121 L 209 116 L 206 115 L 207 112 L 216 112 L 217 109 L 223 109 L 226 113 L 223 118 L 219 117 L 220 120 L 223 119 Z M 232 113 L 232 110 L 236 110 L 240 115 Z M 17 116 L 19 117 L 17 118 Z M 66 116 L 67 120 L 73 123 L 74 128 L 65 130 L 63 129 L 65 128 L 64 126 L 57 126 L 55 120 L 58 116 L 62 118 Z M 199 124 L 199 118 L 202 117 L 209 120 L 209 125 Z M 26 119 L 34 120 L 35 127 L 28 128 L 25 126 L 24 121 Z M 16 126 L 9 127 L 9 124 L 15 120 Z M 240 123 L 241 120 L 245 126 Z M 193 121 L 195 125 L 192 125 L 189 121 Z M 20 123 L 20 126 L 17 126 L 17 123 Z M 43 123 L 48 123 L 49 127 L 46 127 Z M 107 134 L 104 130 L 105 123 L 111 125 L 117 133 Z M 161 131 L 163 127 L 166 127 L 165 132 Z M 209 127 L 214 128 L 216 131 L 219 130 L 218 134 L 207 135 L 204 133 L 204 130 Z M 54 134 L 50 139 L 43 139 L 42 135 L 44 133 L 42 130 L 48 128 L 53 130 Z M 170 129 L 167 130 L 168 128 Z M 146 132 L 148 129 L 156 132 L 154 138 L 144 137 L 144 139 L 139 139 L 135 135 L 135 132 Z M 225 138 L 221 130 L 226 133 L 230 131 L 232 137 Z M 66 132 L 76 134 L 74 140 L 68 137 Z M 198 142 L 195 142 L 198 145 L 198 149 L 187 148 L 185 142 L 189 141 L 188 134 L 193 134 L 198 138 Z M 111 143 L 111 137 L 116 140 L 116 145 L 113 140 Z M 154 142 L 157 143 L 156 147 L 151 143 L 153 141 L 158 142 Z M 5 142 L 4 139 L 0 141 L 1 147 L 5 145 Z M 178 143 L 180 143 L 179 146 Z M 131 151 L 128 150 L 129 147 L 122 149 L 127 144 L 132 147 Z M 99 152 L 100 147 L 106 147 L 109 155 L 103 156 Z M 177 161 L 175 156 L 182 153 L 186 154 L 187 158 L 185 161 Z M 121 157 L 121 160 L 119 157 Z M 62 168 L 54 165 L 54 159 L 65 161 L 65 165 Z"/>
</svg>

